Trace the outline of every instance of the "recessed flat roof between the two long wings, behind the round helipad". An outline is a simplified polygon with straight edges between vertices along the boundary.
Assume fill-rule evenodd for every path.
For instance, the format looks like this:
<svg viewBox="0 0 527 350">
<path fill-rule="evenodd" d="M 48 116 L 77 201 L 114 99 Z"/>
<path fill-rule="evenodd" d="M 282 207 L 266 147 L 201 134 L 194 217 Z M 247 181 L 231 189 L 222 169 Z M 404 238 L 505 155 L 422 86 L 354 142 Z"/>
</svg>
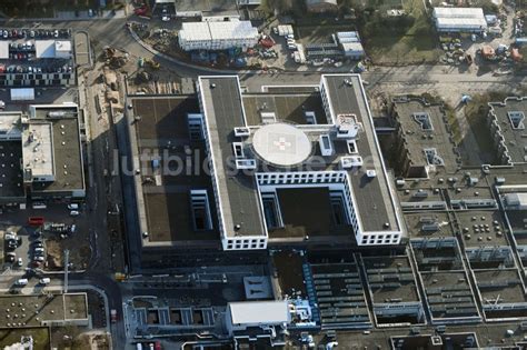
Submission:
<svg viewBox="0 0 527 350">
<path fill-rule="evenodd" d="M 306 112 L 314 112 L 317 124 L 328 123 L 320 93 L 243 93 L 242 99 L 248 126 L 264 123 L 262 113 L 274 113 L 277 121 L 306 124 Z"/>
</svg>

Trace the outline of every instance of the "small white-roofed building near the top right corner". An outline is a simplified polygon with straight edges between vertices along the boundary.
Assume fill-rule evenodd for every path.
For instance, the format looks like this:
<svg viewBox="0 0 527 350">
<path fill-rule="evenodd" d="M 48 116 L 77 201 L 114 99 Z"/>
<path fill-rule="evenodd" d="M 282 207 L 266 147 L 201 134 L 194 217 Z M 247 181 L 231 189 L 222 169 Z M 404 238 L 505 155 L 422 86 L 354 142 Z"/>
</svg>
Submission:
<svg viewBox="0 0 527 350">
<path fill-rule="evenodd" d="M 439 32 L 483 32 L 487 21 L 481 8 L 434 8 Z"/>
</svg>

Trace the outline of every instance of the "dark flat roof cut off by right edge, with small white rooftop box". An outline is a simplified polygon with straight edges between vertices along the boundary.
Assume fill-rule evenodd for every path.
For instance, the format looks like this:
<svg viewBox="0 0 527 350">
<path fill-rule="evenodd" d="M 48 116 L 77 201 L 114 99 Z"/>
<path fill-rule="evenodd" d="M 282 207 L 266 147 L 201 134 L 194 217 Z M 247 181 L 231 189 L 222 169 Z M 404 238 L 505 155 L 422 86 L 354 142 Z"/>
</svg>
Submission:
<svg viewBox="0 0 527 350">
<path fill-rule="evenodd" d="M 508 153 L 514 163 L 527 162 L 527 99 L 507 98 L 489 103 L 496 118 Z"/>
</svg>

